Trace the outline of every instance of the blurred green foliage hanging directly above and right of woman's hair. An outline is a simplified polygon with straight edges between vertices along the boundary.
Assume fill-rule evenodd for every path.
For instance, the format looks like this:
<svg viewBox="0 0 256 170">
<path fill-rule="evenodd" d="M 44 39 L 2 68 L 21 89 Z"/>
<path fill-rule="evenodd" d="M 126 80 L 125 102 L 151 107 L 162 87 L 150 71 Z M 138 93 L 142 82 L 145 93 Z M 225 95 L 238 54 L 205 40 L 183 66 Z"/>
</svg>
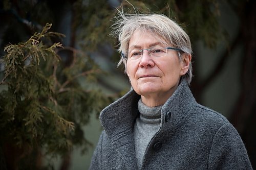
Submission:
<svg viewBox="0 0 256 170">
<path fill-rule="evenodd" d="M 176 20 L 188 33 L 191 41 L 202 40 L 213 48 L 224 37 L 218 22 L 219 2 L 208 1 L 123 1 L 127 13 L 162 13 Z M 133 7 L 134 6 L 134 7 Z"/>
</svg>

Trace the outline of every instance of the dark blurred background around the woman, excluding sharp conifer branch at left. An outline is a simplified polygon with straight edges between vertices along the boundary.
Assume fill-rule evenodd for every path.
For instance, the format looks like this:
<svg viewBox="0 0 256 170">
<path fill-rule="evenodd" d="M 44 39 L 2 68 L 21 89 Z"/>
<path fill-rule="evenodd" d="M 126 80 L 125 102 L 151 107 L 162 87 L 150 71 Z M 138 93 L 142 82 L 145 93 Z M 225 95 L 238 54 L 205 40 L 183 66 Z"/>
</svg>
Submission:
<svg viewBox="0 0 256 170">
<path fill-rule="evenodd" d="M 59 93 L 53 92 L 54 99 L 56 98 L 54 107 L 58 105 L 62 112 L 57 109 L 56 113 L 74 122 L 75 130 L 69 135 L 70 138 L 64 136 L 66 138 L 63 140 L 70 139 L 68 149 L 60 147 L 56 152 L 48 148 L 49 141 L 58 141 L 51 138 L 54 133 L 41 135 L 41 138 L 36 137 L 33 140 L 29 135 L 23 137 L 25 130 L 20 130 L 11 137 L 7 134 L 1 135 L 0 169 L 89 168 L 91 156 L 102 131 L 98 119 L 100 110 L 130 89 L 123 68 L 117 68 L 120 57 L 116 52 L 117 38 L 110 36 L 116 8 L 120 8 L 121 4 L 127 13 L 134 13 L 135 10 L 137 13 L 163 13 L 175 19 L 185 29 L 193 44 L 194 77 L 190 88 L 197 102 L 229 119 L 241 135 L 252 166 L 256 168 L 255 1 L 2 0 L 2 59 L 7 57 L 8 52 L 4 51 L 7 45 L 27 41 L 35 32 L 41 32 L 46 23 L 52 23 L 50 31 L 65 35 L 62 38 L 54 37 L 51 41 L 44 40 L 44 43 L 47 45 L 50 42 L 60 42 L 63 45 L 62 48 L 55 49 L 55 53 L 60 57 L 56 79 L 60 84 L 62 82 L 62 86 L 56 86 Z M 4 99 L 7 96 L 6 91 L 10 90 L 12 79 L 6 76 L 7 62 L 3 61 L 6 60 L 0 63 L 0 82 L 3 82 L 0 84 L 0 128 L 9 133 L 8 131 L 14 131 L 14 123 L 11 122 L 14 120 L 8 119 L 8 123 L 4 122 L 7 114 Z M 40 64 L 40 69 L 45 73 L 53 71 L 53 68 L 55 67 Z M 87 74 L 88 70 L 94 70 L 97 74 Z M 73 77 L 69 76 L 71 72 Z M 46 75 L 49 75 L 48 73 Z M 9 83 L 5 83 L 7 81 Z M 63 90 L 65 85 L 69 87 L 66 90 L 70 93 Z M 77 93 L 83 95 L 74 97 L 77 93 L 74 93 L 74 90 L 69 91 L 71 88 L 81 89 L 81 93 Z M 58 96 L 63 98 L 59 99 Z M 71 98 L 74 100 L 70 101 Z M 67 99 L 68 102 L 65 103 L 62 99 Z M 38 101 L 42 103 L 41 97 Z M 67 105 L 70 105 L 68 109 Z M 25 106 L 23 103 L 20 108 Z M 14 113 L 15 109 L 10 114 Z M 50 124 L 39 127 L 44 122 L 44 114 L 38 119 L 38 125 L 34 125 L 38 132 L 36 136 L 39 136 L 39 133 L 55 131 L 51 129 Z M 26 116 L 26 111 L 20 115 Z M 24 118 L 17 123 L 17 127 L 26 127 L 27 124 L 23 122 Z M 17 134 L 21 136 L 20 141 L 23 144 L 17 144 Z M 31 142 L 27 142 L 30 140 Z M 9 141 L 13 143 L 10 144 Z M 24 147 L 26 149 L 22 149 Z M 29 152 L 27 148 L 30 148 Z M 62 152 L 59 152 L 60 150 Z M 34 159 L 28 159 L 29 157 Z M 14 165 L 10 165 L 9 162 L 13 159 Z"/>
</svg>

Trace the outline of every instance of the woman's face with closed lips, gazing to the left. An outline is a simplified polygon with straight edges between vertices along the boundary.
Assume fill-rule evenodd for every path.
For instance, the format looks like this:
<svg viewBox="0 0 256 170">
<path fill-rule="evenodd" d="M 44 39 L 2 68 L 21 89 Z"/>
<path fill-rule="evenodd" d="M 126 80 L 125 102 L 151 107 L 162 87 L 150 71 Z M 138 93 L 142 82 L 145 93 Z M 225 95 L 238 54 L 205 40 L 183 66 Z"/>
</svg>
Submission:
<svg viewBox="0 0 256 170">
<path fill-rule="evenodd" d="M 142 102 L 151 107 L 165 103 L 177 88 L 184 71 L 183 62 L 180 62 L 175 50 L 167 50 L 162 57 L 150 56 L 147 50 L 143 51 L 142 57 L 131 57 L 135 50 L 156 45 L 167 47 L 151 32 L 136 31 L 129 42 L 126 64 L 133 89 L 141 95 Z"/>
</svg>

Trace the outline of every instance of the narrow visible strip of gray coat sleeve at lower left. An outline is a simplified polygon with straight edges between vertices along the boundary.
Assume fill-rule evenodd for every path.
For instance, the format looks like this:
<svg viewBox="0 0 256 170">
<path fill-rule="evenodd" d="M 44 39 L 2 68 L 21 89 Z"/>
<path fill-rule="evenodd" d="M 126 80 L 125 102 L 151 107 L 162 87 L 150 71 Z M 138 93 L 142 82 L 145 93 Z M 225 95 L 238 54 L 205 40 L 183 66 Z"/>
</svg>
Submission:
<svg viewBox="0 0 256 170">
<path fill-rule="evenodd" d="M 89 168 L 90 170 L 102 169 L 102 140 L 103 140 L 103 132 L 99 137 L 98 144 L 93 153 L 90 168 Z"/>
</svg>

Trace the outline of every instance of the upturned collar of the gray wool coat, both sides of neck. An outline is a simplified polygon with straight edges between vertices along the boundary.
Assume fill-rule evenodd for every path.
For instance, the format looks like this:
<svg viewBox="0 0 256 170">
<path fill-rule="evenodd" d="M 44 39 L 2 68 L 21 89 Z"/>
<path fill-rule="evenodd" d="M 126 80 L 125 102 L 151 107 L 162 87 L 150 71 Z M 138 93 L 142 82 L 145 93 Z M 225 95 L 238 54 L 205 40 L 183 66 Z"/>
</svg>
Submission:
<svg viewBox="0 0 256 170">
<path fill-rule="evenodd" d="M 100 122 L 106 134 L 112 139 L 120 133 L 132 131 L 134 121 L 138 115 L 138 95 L 133 89 L 127 92 L 122 98 L 112 103 L 100 113 Z M 182 79 L 178 88 L 172 96 L 165 102 L 162 108 L 162 120 L 167 112 L 172 113 L 172 122 L 180 123 L 187 113 L 190 113 L 191 103 L 196 103 L 185 79 Z"/>
</svg>

